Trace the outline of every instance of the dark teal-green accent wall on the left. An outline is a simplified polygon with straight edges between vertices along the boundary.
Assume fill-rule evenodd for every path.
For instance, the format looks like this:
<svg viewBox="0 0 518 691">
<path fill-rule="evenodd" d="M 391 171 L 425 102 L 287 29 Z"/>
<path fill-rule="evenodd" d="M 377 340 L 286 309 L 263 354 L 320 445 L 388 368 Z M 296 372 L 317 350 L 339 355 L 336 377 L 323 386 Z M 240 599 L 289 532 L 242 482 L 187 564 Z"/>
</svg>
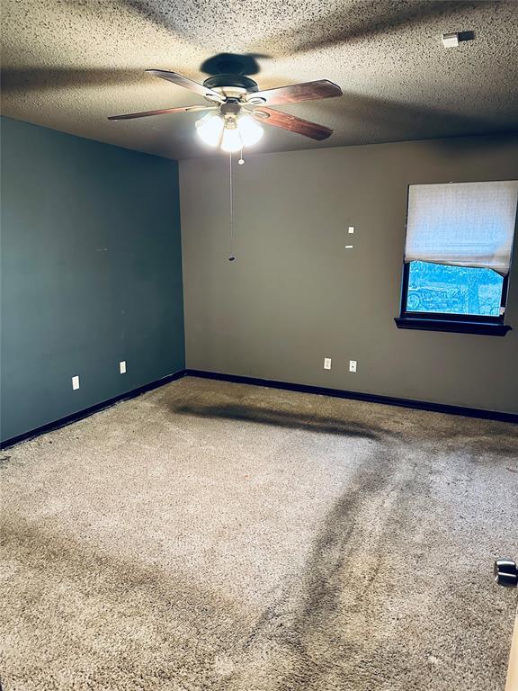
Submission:
<svg viewBox="0 0 518 691">
<path fill-rule="evenodd" d="M 5 118 L 1 141 L 5 440 L 182 370 L 184 343 L 177 163 Z"/>
</svg>

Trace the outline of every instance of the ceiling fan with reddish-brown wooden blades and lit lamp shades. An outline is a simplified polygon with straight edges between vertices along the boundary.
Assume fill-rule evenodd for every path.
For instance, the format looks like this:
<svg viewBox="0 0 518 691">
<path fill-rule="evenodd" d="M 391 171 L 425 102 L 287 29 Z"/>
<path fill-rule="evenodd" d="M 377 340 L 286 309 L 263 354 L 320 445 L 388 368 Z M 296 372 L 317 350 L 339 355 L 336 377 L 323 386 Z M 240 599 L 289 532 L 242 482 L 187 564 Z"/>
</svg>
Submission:
<svg viewBox="0 0 518 691">
<path fill-rule="evenodd" d="M 147 69 L 146 72 L 203 96 L 210 105 L 188 105 L 159 111 L 131 112 L 126 115 L 112 115 L 108 120 L 131 120 L 171 112 L 209 111 L 196 122 L 198 135 L 206 144 L 212 147 L 220 146 L 223 151 L 229 152 L 238 151 L 244 146 L 253 146 L 259 141 L 263 136 L 263 128 L 260 124 L 263 122 L 274 127 L 281 127 L 283 130 L 297 132 L 311 139 L 327 139 L 333 134 L 333 130 L 328 127 L 302 120 L 287 112 L 272 110 L 268 106 L 342 95 L 340 86 L 327 79 L 259 91 L 255 81 L 246 75 L 215 75 L 205 79 L 203 84 L 198 84 L 176 72 L 163 69 Z"/>
</svg>

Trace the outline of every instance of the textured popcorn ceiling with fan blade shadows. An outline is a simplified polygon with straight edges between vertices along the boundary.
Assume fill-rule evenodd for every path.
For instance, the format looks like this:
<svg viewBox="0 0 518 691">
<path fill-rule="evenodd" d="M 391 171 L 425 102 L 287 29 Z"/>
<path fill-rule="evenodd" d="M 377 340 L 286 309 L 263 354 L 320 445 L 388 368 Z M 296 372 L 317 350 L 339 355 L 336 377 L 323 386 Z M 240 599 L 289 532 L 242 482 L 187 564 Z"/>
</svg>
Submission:
<svg viewBox="0 0 518 691">
<path fill-rule="evenodd" d="M 204 103 L 144 74 L 197 81 L 204 60 L 253 54 L 261 88 L 327 78 L 344 96 L 280 110 L 335 130 L 265 125 L 262 151 L 518 129 L 518 3 L 434 0 L 3 0 L 4 115 L 165 157 L 212 155 L 199 114 L 106 117 Z M 443 32 L 471 31 L 457 49 Z"/>
</svg>

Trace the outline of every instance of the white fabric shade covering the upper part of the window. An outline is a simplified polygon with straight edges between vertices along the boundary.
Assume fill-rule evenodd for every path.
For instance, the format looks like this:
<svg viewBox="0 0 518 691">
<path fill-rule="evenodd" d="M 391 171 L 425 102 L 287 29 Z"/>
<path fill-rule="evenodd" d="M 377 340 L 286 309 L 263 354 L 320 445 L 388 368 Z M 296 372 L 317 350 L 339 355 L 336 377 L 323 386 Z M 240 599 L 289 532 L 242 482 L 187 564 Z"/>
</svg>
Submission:
<svg viewBox="0 0 518 691">
<path fill-rule="evenodd" d="M 411 184 L 405 261 L 508 274 L 517 200 L 518 180 Z"/>
</svg>

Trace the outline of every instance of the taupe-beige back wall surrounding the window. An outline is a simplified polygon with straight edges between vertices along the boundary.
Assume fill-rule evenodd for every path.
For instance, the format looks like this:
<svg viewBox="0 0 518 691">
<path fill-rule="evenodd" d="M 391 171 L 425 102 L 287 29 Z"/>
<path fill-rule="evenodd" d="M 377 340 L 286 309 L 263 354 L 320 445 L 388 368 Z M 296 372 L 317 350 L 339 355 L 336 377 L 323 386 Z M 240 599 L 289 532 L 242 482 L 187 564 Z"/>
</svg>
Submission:
<svg viewBox="0 0 518 691">
<path fill-rule="evenodd" d="M 394 324 L 407 185 L 516 178 L 516 135 L 250 156 L 229 263 L 228 157 L 183 161 L 186 366 L 517 412 L 518 251 L 506 337 Z"/>
</svg>

